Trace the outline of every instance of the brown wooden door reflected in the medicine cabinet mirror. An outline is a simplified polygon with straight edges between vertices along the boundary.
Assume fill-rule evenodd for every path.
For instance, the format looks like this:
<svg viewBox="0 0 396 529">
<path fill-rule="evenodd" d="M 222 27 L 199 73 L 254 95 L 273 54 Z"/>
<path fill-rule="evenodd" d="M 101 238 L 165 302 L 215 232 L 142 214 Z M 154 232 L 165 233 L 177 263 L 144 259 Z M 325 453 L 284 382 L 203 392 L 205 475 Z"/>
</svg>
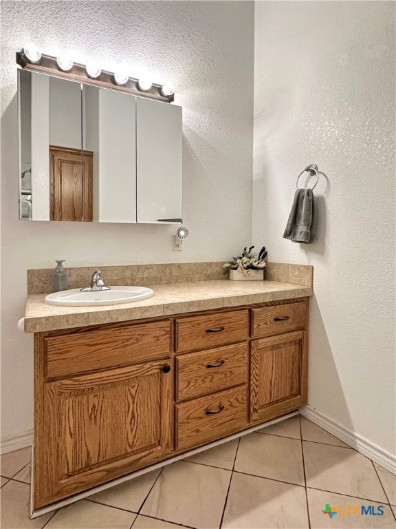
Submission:
<svg viewBox="0 0 396 529">
<path fill-rule="evenodd" d="M 50 220 L 92 221 L 93 156 L 50 145 Z"/>
</svg>

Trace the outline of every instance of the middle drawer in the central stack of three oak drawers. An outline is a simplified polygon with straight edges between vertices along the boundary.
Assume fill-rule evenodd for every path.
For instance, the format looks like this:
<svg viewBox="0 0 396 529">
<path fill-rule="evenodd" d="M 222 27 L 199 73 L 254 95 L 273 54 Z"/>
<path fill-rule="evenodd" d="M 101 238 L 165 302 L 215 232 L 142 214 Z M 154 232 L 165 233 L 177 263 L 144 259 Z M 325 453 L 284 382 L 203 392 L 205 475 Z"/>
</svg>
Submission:
<svg viewBox="0 0 396 529">
<path fill-rule="evenodd" d="M 248 344 L 228 345 L 177 357 L 177 400 L 247 384 L 248 349 Z"/>
</svg>

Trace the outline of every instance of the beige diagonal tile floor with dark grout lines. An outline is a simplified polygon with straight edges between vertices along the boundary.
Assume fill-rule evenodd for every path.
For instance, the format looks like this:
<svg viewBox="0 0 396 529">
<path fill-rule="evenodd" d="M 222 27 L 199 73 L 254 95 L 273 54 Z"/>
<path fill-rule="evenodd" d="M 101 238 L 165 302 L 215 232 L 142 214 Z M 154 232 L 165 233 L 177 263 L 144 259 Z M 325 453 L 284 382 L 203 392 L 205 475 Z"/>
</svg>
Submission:
<svg viewBox="0 0 396 529">
<path fill-rule="evenodd" d="M 396 528 L 396 478 L 304 417 L 30 520 L 30 448 L 1 456 L 2 529 Z M 322 510 L 378 506 L 330 519 Z M 345 512 L 345 511 L 344 511 Z"/>
</svg>

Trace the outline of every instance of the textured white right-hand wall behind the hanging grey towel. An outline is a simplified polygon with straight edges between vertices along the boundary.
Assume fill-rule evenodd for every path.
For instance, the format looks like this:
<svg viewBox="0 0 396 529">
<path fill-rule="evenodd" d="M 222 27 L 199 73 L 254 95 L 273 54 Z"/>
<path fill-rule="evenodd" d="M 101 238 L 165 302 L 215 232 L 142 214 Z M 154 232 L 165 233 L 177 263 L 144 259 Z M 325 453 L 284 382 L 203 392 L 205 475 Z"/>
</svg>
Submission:
<svg viewBox="0 0 396 529">
<path fill-rule="evenodd" d="M 254 239 L 314 264 L 309 404 L 395 453 L 395 3 L 256 2 Z M 318 239 L 282 238 L 317 163 Z M 311 180 L 310 180 L 311 183 Z"/>
</svg>

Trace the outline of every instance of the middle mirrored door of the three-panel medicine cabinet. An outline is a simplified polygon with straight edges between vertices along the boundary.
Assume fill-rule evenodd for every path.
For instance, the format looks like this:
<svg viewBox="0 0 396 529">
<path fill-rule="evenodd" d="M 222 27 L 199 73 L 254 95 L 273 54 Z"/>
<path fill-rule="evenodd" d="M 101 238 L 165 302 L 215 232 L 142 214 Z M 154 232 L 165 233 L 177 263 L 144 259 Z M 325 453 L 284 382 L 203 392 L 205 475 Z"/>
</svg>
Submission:
<svg viewBox="0 0 396 529">
<path fill-rule="evenodd" d="M 135 96 L 85 85 L 84 165 L 94 174 L 94 220 L 136 222 Z"/>
</svg>

